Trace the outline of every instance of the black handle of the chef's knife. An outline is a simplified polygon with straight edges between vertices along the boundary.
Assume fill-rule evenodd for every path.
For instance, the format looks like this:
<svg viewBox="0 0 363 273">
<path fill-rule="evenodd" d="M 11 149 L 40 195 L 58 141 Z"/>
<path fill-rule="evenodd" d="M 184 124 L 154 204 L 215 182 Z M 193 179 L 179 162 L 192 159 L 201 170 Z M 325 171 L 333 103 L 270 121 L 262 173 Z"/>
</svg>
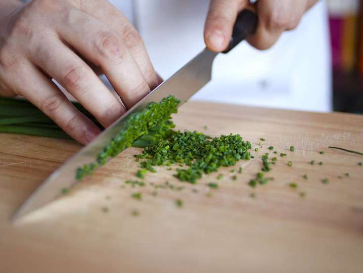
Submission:
<svg viewBox="0 0 363 273">
<path fill-rule="evenodd" d="M 238 16 L 233 28 L 230 45 L 223 53 L 229 53 L 235 46 L 256 32 L 258 16 L 250 10 L 243 10 Z"/>
</svg>

